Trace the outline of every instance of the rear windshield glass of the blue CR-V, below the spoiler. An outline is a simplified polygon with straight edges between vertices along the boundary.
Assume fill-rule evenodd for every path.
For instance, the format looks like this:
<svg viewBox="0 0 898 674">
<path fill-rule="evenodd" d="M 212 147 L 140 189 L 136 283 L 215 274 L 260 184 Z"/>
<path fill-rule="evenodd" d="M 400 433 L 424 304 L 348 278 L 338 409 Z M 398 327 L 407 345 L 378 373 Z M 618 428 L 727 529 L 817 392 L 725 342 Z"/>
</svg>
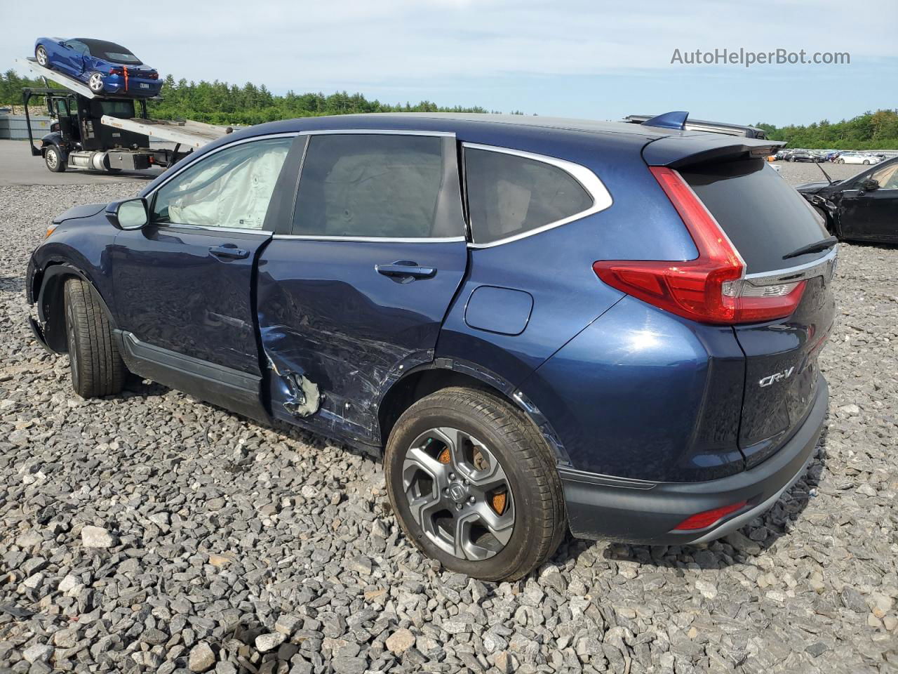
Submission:
<svg viewBox="0 0 898 674">
<path fill-rule="evenodd" d="M 680 174 L 742 255 L 746 273 L 788 269 L 829 253 L 783 258 L 828 234 L 805 199 L 763 159 L 701 164 Z"/>
</svg>

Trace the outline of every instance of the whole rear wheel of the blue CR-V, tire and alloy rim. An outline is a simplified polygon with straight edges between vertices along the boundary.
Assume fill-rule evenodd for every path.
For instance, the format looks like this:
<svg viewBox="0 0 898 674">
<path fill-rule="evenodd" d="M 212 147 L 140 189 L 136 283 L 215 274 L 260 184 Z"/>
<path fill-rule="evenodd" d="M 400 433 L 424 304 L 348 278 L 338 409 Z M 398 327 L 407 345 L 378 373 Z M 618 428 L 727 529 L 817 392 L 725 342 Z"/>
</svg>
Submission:
<svg viewBox="0 0 898 674">
<path fill-rule="evenodd" d="M 427 395 L 396 422 L 383 463 L 402 530 L 452 571 L 513 581 L 544 563 L 565 534 L 550 448 L 497 395 Z"/>
</svg>

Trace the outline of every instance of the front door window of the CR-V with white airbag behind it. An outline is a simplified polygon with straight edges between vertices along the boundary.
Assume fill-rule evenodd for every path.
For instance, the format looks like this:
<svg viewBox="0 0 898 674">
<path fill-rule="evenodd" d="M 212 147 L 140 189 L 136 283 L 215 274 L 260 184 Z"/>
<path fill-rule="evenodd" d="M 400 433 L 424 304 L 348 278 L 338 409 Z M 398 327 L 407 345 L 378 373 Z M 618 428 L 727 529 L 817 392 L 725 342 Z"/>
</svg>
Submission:
<svg viewBox="0 0 898 674">
<path fill-rule="evenodd" d="M 261 229 L 292 143 L 256 140 L 200 159 L 156 192 L 152 222 Z"/>
</svg>

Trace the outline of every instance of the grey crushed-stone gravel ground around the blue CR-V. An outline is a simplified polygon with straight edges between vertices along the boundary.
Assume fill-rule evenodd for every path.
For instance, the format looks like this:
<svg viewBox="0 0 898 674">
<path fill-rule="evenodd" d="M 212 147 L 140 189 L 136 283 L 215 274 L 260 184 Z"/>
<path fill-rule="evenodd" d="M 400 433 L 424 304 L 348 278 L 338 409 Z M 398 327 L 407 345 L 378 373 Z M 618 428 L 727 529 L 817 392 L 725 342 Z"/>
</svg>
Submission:
<svg viewBox="0 0 898 674">
<path fill-rule="evenodd" d="M 898 250 L 842 247 L 827 430 L 770 513 L 704 546 L 568 539 L 486 584 L 399 535 L 366 457 L 162 386 L 72 394 L 27 257 L 134 190 L 0 187 L 0 670 L 898 670 Z"/>
</svg>

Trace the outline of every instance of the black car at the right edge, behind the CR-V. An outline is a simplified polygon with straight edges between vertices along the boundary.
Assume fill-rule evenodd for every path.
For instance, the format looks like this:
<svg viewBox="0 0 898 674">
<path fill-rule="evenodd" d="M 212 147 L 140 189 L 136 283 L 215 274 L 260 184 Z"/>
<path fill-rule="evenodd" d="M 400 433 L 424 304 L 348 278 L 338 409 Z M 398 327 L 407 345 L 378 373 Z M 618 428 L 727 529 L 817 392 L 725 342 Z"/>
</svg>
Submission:
<svg viewBox="0 0 898 674">
<path fill-rule="evenodd" d="M 841 181 L 806 182 L 797 191 L 843 241 L 898 244 L 898 157 Z"/>
</svg>

